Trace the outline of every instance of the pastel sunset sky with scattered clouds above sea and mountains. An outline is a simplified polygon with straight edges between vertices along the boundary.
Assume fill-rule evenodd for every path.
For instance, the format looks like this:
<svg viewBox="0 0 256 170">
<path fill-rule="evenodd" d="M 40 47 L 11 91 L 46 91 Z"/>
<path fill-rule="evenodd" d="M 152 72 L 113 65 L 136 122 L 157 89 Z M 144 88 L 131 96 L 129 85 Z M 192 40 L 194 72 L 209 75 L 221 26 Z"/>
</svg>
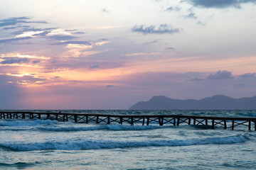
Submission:
<svg viewBox="0 0 256 170">
<path fill-rule="evenodd" d="M 256 96 L 255 0 L 0 0 L 0 109 Z"/>
</svg>

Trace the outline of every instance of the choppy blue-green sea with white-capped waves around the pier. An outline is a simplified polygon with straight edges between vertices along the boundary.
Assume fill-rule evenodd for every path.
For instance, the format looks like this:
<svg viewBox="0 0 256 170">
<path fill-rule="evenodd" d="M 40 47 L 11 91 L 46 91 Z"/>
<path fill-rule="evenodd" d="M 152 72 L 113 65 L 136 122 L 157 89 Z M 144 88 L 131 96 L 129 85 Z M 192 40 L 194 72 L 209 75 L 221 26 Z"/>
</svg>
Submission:
<svg viewBox="0 0 256 170">
<path fill-rule="evenodd" d="M 59 111 L 38 111 L 56 112 Z M 256 111 L 96 111 L 256 118 Z M 256 169 L 256 131 L 240 125 L 0 120 L 0 169 Z"/>
</svg>

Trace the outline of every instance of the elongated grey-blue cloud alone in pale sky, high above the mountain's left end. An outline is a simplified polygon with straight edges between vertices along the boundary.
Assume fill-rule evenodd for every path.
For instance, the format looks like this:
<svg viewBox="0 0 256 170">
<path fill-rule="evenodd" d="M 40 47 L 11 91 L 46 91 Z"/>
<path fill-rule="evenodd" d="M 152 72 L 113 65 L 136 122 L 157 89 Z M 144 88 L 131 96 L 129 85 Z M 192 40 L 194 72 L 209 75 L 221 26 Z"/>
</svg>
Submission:
<svg viewBox="0 0 256 170">
<path fill-rule="evenodd" d="M 132 28 L 132 32 L 134 33 L 143 33 L 144 35 L 146 34 L 174 34 L 174 33 L 179 33 L 180 29 L 178 28 L 173 28 L 172 26 L 169 26 L 167 24 L 161 24 L 158 28 L 156 26 L 134 26 Z"/>
</svg>

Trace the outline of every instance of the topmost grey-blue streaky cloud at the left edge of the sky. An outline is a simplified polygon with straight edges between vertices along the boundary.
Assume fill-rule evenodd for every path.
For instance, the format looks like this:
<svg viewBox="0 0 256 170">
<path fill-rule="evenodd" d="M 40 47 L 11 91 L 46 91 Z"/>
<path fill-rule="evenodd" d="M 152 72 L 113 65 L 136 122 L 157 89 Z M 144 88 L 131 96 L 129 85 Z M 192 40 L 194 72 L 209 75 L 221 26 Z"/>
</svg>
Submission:
<svg viewBox="0 0 256 170">
<path fill-rule="evenodd" d="M 0 27 L 15 26 L 18 23 L 47 23 L 45 21 L 29 21 L 28 17 L 17 17 L 0 20 Z"/>
</svg>

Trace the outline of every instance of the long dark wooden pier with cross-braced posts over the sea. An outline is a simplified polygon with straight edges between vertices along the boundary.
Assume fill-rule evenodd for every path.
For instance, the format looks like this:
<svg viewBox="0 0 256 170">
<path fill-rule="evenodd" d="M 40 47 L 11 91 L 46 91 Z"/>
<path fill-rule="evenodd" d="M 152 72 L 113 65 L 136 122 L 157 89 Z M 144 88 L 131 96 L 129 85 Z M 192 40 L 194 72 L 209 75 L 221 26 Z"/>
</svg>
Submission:
<svg viewBox="0 0 256 170">
<path fill-rule="evenodd" d="M 178 126 L 181 123 L 187 125 L 209 125 L 214 129 L 217 125 L 224 129 L 231 129 L 238 125 L 247 126 L 251 130 L 254 125 L 256 130 L 256 118 L 230 118 L 212 117 L 200 115 L 107 115 L 97 113 L 38 113 L 38 112 L 0 112 L 0 119 L 39 119 L 58 120 L 63 122 L 73 121 L 75 123 L 101 123 L 101 124 L 123 124 L 149 125 L 150 123 L 160 126 L 171 124 Z"/>
</svg>

